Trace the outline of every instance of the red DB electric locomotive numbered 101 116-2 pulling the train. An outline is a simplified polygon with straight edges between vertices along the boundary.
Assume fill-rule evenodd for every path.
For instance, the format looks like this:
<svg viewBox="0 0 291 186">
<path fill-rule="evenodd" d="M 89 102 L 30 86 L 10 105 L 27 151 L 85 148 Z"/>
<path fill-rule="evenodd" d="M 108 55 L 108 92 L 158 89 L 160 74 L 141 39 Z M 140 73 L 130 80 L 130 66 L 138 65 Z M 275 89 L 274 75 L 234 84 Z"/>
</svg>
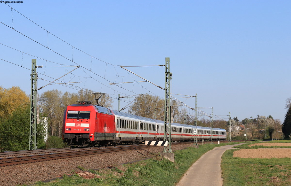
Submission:
<svg viewBox="0 0 291 186">
<path fill-rule="evenodd" d="M 115 133 L 115 115 L 108 108 L 77 101 L 64 112 L 63 140 L 70 146 L 107 146 Z"/>
</svg>

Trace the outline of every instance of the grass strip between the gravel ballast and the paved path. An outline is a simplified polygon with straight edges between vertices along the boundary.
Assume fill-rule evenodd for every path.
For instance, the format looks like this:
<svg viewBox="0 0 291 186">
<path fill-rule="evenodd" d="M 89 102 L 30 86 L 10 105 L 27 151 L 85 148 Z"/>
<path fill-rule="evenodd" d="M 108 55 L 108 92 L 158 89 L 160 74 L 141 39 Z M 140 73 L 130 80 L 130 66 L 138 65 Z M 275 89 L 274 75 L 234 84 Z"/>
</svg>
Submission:
<svg viewBox="0 0 291 186">
<path fill-rule="evenodd" d="M 175 186 L 189 167 L 204 153 L 217 146 L 237 144 L 238 142 L 200 145 L 199 149 L 186 148 L 175 151 L 175 162 L 170 162 L 160 156 L 142 160 L 132 164 L 120 165 L 115 169 L 90 170 L 91 179 L 85 179 L 74 173 L 73 176 L 64 176 L 63 179 L 49 183 L 37 182 L 43 186 Z M 241 143 L 241 142 L 240 142 Z"/>
</svg>

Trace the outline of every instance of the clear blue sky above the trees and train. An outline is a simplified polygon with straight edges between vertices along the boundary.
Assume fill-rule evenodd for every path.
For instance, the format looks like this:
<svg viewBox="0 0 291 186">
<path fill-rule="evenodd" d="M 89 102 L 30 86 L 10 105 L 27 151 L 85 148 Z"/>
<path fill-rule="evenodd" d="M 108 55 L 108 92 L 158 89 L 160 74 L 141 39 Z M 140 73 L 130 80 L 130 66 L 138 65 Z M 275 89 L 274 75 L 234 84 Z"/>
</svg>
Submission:
<svg viewBox="0 0 291 186">
<path fill-rule="evenodd" d="M 25 53 L 42 58 L 36 58 L 37 65 L 51 68 L 37 71 L 52 78 L 74 69 L 55 67 L 61 65 L 52 62 L 82 66 L 60 79 L 82 83 L 48 85 L 39 94 L 52 89 L 76 92 L 80 87 L 113 98 L 141 93 L 164 97 L 164 91 L 150 83 L 119 85 L 122 87 L 109 83 L 143 81 L 129 76 L 119 65 L 159 65 L 169 57 L 172 93 L 197 93 L 198 107 L 213 106 L 214 115 L 231 112 L 231 117 L 239 120 L 256 115 L 284 120 L 285 100 L 291 96 L 291 1 L 23 0 L 7 4 L 45 30 L 0 3 L 1 59 L 31 69 L 35 57 Z M 30 94 L 31 71 L 3 60 L 0 85 L 19 86 Z M 164 67 L 128 69 L 164 87 Z M 47 76 L 39 74 L 39 78 L 52 81 Z M 38 87 L 47 83 L 39 79 Z M 195 99 L 185 103 L 194 107 Z M 125 105 L 121 103 L 121 107 Z M 118 109 L 116 101 L 113 109 Z"/>
</svg>

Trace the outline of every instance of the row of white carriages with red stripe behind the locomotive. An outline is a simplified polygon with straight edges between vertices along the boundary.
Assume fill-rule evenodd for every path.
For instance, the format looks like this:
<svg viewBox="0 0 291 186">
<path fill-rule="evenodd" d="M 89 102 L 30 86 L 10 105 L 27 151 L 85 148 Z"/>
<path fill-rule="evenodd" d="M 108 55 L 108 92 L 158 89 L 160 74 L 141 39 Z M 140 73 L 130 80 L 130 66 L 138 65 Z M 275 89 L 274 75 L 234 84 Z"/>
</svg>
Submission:
<svg viewBox="0 0 291 186">
<path fill-rule="evenodd" d="M 118 143 L 141 143 L 145 140 L 164 140 L 164 121 L 140 117 L 124 112 L 114 111 L 116 140 Z M 171 124 L 172 141 L 210 140 L 211 128 L 192 125 Z M 213 128 L 214 140 L 225 140 L 226 130 Z"/>
</svg>

